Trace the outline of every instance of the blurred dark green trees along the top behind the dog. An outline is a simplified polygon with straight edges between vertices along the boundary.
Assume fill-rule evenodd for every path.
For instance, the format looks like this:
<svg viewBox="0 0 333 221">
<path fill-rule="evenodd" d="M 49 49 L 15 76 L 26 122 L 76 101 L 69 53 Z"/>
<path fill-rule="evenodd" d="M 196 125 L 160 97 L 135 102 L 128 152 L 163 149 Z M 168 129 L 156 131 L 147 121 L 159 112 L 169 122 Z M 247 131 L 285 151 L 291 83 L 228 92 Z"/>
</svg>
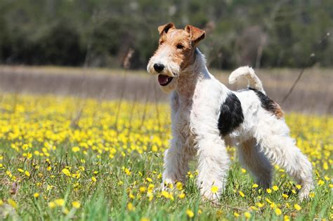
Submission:
<svg viewBox="0 0 333 221">
<path fill-rule="evenodd" d="M 145 68 L 166 22 L 206 30 L 210 67 L 333 66 L 332 0 L 1 0 L 0 63 Z"/>
</svg>

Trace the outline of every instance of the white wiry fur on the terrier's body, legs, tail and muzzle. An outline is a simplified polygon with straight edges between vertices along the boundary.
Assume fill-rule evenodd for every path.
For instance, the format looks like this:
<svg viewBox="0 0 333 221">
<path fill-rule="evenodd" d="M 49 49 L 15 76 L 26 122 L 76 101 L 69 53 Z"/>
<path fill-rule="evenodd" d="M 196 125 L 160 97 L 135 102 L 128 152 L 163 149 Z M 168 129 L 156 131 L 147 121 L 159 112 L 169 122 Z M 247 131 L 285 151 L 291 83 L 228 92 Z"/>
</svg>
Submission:
<svg viewBox="0 0 333 221">
<path fill-rule="evenodd" d="M 154 55 L 150 62 L 163 61 L 164 56 L 167 54 Z M 168 69 L 168 63 L 164 64 Z M 151 66 L 148 65 L 148 71 Z M 285 120 L 263 109 L 253 90 L 230 91 L 209 73 L 199 50 L 194 64 L 177 75 L 171 90 L 172 140 L 164 154 L 163 186 L 177 180 L 185 181 L 188 161 L 197 156 L 200 192 L 204 198 L 217 200 L 226 186 L 230 163 L 226 145 L 235 145 L 240 161 L 261 186 L 270 186 L 271 163 L 276 163 L 302 185 L 300 198 L 308 196 L 313 188 L 311 163 L 290 138 Z M 230 76 L 231 81 L 237 81 L 240 76 L 247 77 L 249 86 L 263 92 L 261 81 L 252 68 L 237 69 Z M 221 104 L 230 93 L 240 100 L 244 121 L 232 133 L 222 136 L 217 126 L 218 118 Z M 212 185 L 218 187 L 218 194 L 211 192 Z"/>
</svg>

